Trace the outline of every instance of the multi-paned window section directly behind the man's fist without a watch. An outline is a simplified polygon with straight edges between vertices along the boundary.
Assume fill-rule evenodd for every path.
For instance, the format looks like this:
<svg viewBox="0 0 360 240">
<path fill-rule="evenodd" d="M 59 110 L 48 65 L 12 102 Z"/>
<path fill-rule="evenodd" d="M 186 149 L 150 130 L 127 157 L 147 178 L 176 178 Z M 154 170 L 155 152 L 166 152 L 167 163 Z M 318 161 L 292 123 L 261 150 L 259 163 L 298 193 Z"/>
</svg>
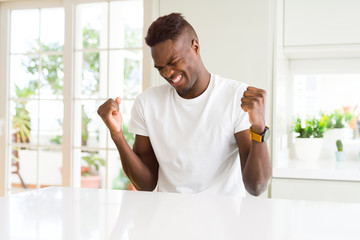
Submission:
<svg viewBox="0 0 360 240">
<path fill-rule="evenodd" d="M 94 161 L 101 186 L 121 188 L 119 154 L 96 111 L 108 98 L 120 96 L 124 134 L 133 144 L 127 124 L 142 91 L 142 2 L 86 3 L 75 9 L 74 158 L 82 160 L 82 186 L 96 171 L 84 172 Z"/>
</svg>

